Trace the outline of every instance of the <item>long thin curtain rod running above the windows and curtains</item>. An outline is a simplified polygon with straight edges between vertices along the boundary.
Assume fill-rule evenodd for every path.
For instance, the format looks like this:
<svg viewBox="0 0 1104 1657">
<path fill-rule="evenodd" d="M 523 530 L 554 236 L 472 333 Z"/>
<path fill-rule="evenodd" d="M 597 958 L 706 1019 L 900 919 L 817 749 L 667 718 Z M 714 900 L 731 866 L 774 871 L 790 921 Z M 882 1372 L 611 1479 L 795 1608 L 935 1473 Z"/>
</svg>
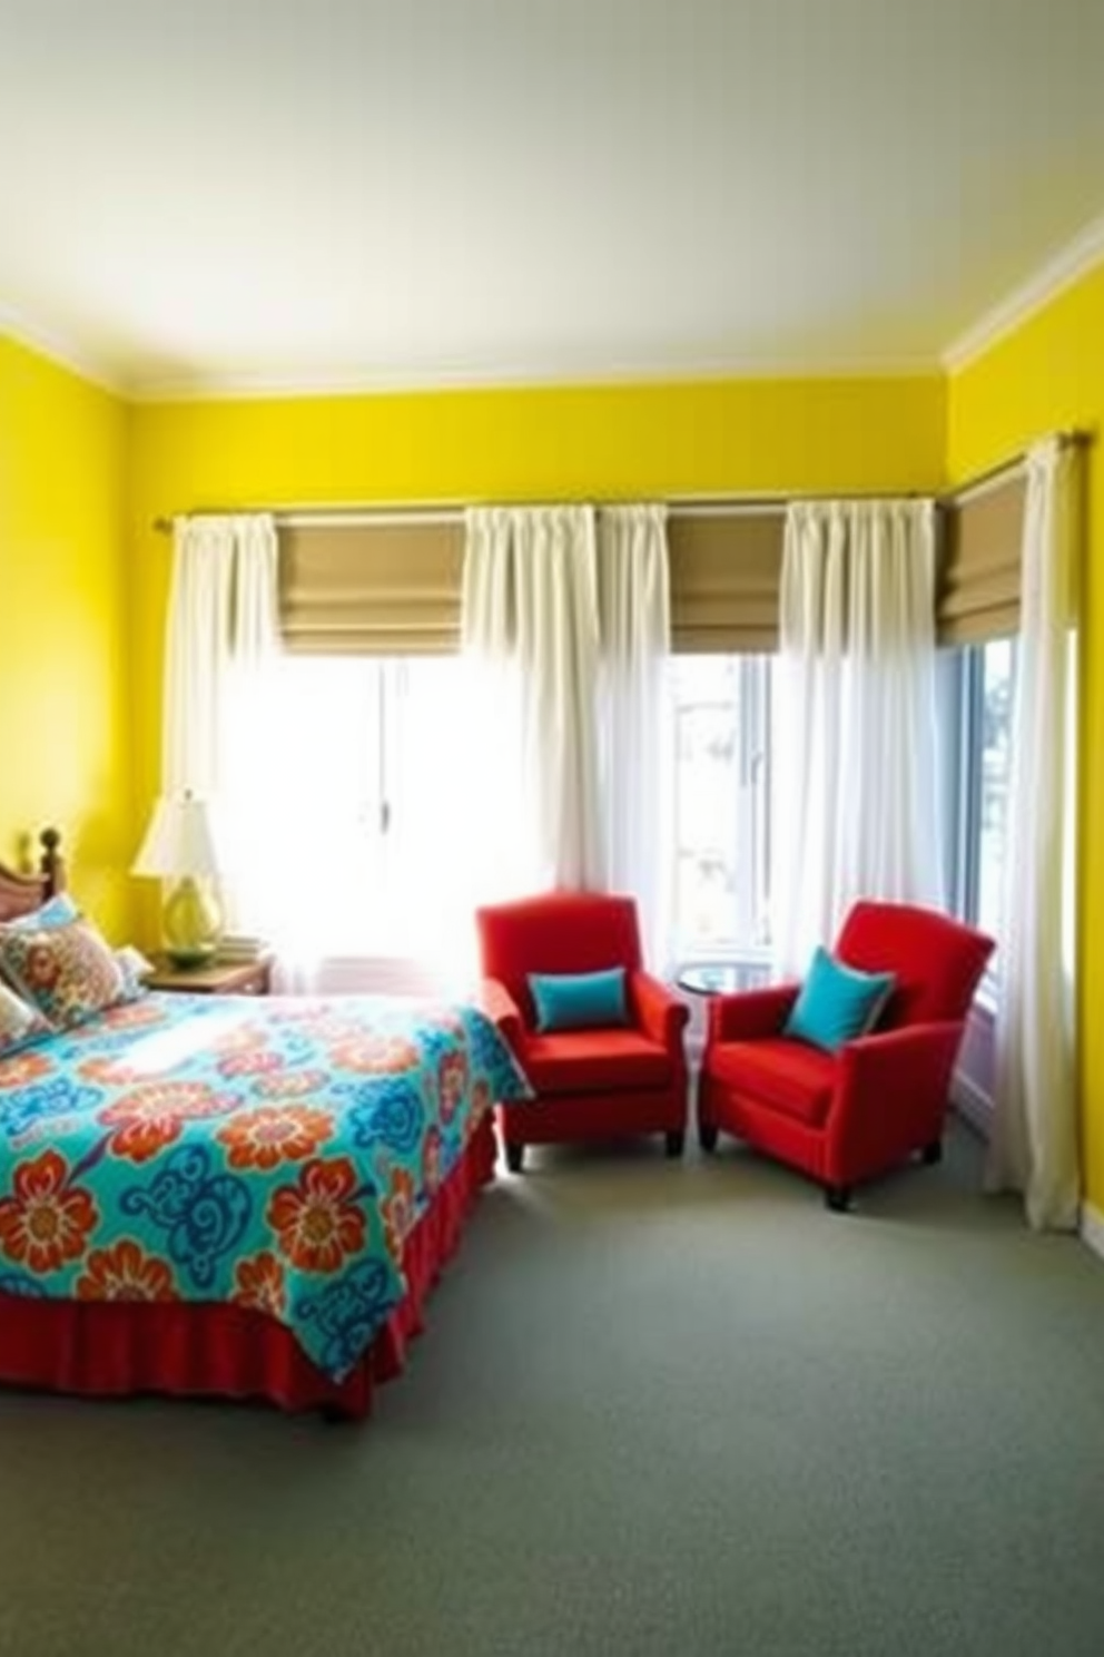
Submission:
<svg viewBox="0 0 1104 1657">
<path fill-rule="evenodd" d="M 1073 428 L 1069 431 L 1054 432 L 1058 442 L 1069 446 L 1087 446 L 1092 442 L 1094 434 L 1091 431 Z M 1013 479 L 1023 471 L 1026 464 L 1026 451 L 1018 451 L 996 466 L 978 472 L 975 477 L 968 479 L 958 489 L 937 492 L 937 490 L 889 490 L 895 499 L 919 500 L 930 499 L 937 505 L 963 505 L 967 500 L 973 500 L 990 489 L 996 489 L 1001 484 Z M 778 512 L 785 512 L 793 500 L 884 500 L 887 490 L 793 490 L 790 494 L 718 494 L 718 495 L 667 495 L 662 505 L 667 507 L 672 517 L 773 517 Z M 194 515 L 210 515 L 223 517 L 235 512 L 270 512 L 275 522 L 285 529 L 311 529 L 323 524 L 348 524 L 356 527 L 359 524 L 371 524 L 374 527 L 389 527 L 396 524 L 460 524 L 463 522 L 463 514 L 468 505 L 502 505 L 502 507 L 526 507 L 526 505 L 571 505 L 576 502 L 526 502 L 526 500 L 500 500 L 500 502 L 473 502 L 473 500 L 442 500 L 435 505 L 404 505 L 402 502 L 381 502 L 377 507 L 367 502 L 318 507 L 318 505 L 290 505 L 283 509 L 273 507 L 257 507 L 257 505 L 235 505 L 235 507 L 202 507 Z M 604 505 L 621 505 L 619 500 L 591 500 L 588 502 L 596 507 Z M 172 519 L 157 517 L 154 519 L 154 530 L 159 535 L 172 534 Z"/>
</svg>

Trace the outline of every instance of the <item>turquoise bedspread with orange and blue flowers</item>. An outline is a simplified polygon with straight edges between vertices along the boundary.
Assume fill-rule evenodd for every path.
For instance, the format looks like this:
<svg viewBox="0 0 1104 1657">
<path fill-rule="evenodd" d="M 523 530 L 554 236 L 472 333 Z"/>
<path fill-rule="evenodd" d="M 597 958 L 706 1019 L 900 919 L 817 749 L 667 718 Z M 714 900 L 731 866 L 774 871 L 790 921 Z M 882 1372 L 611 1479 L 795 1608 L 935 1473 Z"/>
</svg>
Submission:
<svg viewBox="0 0 1104 1657">
<path fill-rule="evenodd" d="M 237 1301 L 341 1380 L 493 1100 L 475 1007 L 149 994 L 0 1059 L 0 1289 Z"/>
</svg>

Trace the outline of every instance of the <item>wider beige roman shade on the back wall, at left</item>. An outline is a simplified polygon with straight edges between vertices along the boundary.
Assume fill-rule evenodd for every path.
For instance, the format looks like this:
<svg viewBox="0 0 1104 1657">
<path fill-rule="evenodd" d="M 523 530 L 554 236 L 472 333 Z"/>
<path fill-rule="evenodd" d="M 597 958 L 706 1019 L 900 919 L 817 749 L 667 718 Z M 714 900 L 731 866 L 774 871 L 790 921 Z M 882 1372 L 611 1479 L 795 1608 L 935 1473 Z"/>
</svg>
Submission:
<svg viewBox="0 0 1104 1657">
<path fill-rule="evenodd" d="M 280 525 L 280 631 L 296 655 L 434 656 L 460 648 L 463 522 Z"/>
</svg>

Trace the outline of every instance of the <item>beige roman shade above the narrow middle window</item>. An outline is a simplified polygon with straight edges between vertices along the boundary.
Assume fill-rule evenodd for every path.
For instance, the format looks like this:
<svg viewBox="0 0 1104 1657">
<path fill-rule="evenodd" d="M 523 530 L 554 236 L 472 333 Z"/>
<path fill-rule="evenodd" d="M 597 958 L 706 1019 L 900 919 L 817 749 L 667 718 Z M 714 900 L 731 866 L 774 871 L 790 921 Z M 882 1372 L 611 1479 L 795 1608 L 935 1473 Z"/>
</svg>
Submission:
<svg viewBox="0 0 1104 1657">
<path fill-rule="evenodd" d="M 778 650 L 785 512 L 667 519 L 670 643 L 677 655 Z"/>
</svg>

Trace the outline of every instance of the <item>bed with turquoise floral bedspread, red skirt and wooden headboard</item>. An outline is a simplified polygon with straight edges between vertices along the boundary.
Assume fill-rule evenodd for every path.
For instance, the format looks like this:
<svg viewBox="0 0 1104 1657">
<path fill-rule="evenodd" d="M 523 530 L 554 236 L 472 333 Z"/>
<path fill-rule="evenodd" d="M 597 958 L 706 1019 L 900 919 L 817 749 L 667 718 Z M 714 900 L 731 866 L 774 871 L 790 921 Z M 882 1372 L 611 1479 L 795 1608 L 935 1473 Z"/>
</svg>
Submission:
<svg viewBox="0 0 1104 1657">
<path fill-rule="evenodd" d="M 0 868 L 0 921 L 65 886 Z M 369 1412 L 528 1084 L 473 1004 L 147 991 L 0 1054 L 0 1382 Z"/>
</svg>

